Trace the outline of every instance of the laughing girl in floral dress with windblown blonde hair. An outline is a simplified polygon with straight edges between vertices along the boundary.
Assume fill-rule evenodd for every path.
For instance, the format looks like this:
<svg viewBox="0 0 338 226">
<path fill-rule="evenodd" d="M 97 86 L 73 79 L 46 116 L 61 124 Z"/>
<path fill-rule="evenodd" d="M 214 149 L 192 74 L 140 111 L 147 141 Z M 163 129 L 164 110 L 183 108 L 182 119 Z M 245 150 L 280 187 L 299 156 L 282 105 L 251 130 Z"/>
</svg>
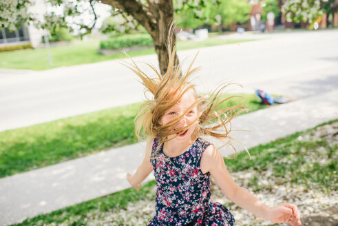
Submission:
<svg viewBox="0 0 338 226">
<path fill-rule="evenodd" d="M 200 136 L 214 136 L 231 143 L 229 125 L 241 105 L 217 111 L 223 87 L 209 98 L 200 97 L 188 81 L 196 68 L 181 74 L 174 60 L 175 48 L 169 42 L 169 64 L 165 75 L 147 76 L 136 63 L 127 65 L 142 79 L 154 99 L 149 99 L 136 116 L 136 134 L 148 138 L 145 158 L 134 175 L 127 174 L 131 187 L 154 170 L 156 178 L 156 216 L 148 225 L 234 225 L 231 212 L 210 201 L 210 176 L 236 205 L 274 223 L 301 225 L 297 207 L 282 203 L 268 207 L 246 189 L 239 187 L 226 170 L 224 159 L 214 145 Z M 195 60 L 195 59 L 194 59 Z M 236 111 L 241 109 L 240 111 Z M 216 119 L 216 120 L 215 120 Z"/>
</svg>

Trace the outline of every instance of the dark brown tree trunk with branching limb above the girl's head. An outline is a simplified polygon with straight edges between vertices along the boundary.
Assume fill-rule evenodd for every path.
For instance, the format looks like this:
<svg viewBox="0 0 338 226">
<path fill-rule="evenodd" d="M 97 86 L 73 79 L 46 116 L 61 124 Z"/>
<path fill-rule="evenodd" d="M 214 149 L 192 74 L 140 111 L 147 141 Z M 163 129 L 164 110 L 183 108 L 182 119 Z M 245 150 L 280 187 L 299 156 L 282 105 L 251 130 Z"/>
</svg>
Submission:
<svg viewBox="0 0 338 226">
<path fill-rule="evenodd" d="M 113 6 L 130 14 L 151 35 L 158 56 L 161 74 L 167 72 L 169 54 L 166 47 L 167 36 L 173 22 L 172 0 L 147 0 L 148 6 L 143 6 L 136 0 L 102 0 L 102 3 Z M 176 43 L 175 34 L 171 37 L 173 45 Z M 178 56 L 175 53 L 176 63 Z"/>
</svg>

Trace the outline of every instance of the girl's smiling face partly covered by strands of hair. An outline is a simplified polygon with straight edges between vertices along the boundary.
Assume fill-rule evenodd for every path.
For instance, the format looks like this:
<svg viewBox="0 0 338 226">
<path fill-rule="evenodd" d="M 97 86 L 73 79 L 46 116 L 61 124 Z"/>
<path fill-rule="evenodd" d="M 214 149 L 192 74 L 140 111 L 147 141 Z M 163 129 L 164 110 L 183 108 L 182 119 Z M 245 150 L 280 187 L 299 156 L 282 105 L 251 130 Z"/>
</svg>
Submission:
<svg viewBox="0 0 338 226">
<path fill-rule="evenodd" d="M 196 101 L 195 95 L 193 95 L 193 92 L 186 92 L 183 94 L 182 99 L 173 107 L 171 107 L 165 114 L 162 116 L 162 119 L 160 120 L 160 125 L 166 125 L 169 123 L 169 121 L 175 119 L 176 117 L 184 114 L 191 105 Z M 187 125 L 190 125 L 194 121 L 198 119 L 198 107 L 194 106 L 187 112 L 182 119 L 176 123 L 176 125 L 173 125 L 169 130 L 180 130 L 182 127 L 186 127 Z M 196 121 L 197 123 L 197 121 Z M 173 138 L 176 142 L 179 143 L 184 143 L 185 141 L 190 141 L 191 135 L 193 134 L 193 131 L 195 131 L 196 124 L 191 126 L 188 130 L 186 130 L 183 134 L 178 135 L 177 134 L 172 134 L 169 135 L 168 138 L 173 138 L 176 136 L 176 138 Z"/>
</svg>

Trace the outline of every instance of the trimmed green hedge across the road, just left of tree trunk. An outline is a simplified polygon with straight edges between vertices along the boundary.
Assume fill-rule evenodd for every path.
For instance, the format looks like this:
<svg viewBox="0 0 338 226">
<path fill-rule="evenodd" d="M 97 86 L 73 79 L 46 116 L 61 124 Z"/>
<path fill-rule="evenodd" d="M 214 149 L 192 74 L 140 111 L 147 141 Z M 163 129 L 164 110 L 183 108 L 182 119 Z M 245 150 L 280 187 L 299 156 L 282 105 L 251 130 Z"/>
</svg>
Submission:
<svg viewBox="0 0 338 226">
<path fill-rule="evenodd" d="M 100 41 L 103 50 L 118 50 L 131 46 L 152 46 L 153 40 L 149 34 L 130 34 Z"/>
</svg>

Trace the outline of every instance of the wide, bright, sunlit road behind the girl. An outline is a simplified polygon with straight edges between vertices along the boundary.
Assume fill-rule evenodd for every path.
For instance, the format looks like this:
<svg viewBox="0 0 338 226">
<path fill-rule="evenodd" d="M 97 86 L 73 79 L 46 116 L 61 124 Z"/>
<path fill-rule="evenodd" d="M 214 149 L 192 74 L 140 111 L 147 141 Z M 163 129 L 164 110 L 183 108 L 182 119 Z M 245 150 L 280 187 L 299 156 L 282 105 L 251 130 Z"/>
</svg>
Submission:
<svg viewBox="0 0 338 226">
<path fill-rule="evenodd" d="M 229 92 L 261 88 L 295 99 L 338 88 L 337 29 L 223 38 L 260 40 L 178 52 L 187 68 L 199 51 L 194 82 L 200 92 L 227 81 L 244 85 Z M 156 55 L 134 60 L 158 64 Z M 0 69 L 0 131 L 135 103 L 142 95 L 136 76 L 119 61 L 42 72 Z"/>
</svg>

